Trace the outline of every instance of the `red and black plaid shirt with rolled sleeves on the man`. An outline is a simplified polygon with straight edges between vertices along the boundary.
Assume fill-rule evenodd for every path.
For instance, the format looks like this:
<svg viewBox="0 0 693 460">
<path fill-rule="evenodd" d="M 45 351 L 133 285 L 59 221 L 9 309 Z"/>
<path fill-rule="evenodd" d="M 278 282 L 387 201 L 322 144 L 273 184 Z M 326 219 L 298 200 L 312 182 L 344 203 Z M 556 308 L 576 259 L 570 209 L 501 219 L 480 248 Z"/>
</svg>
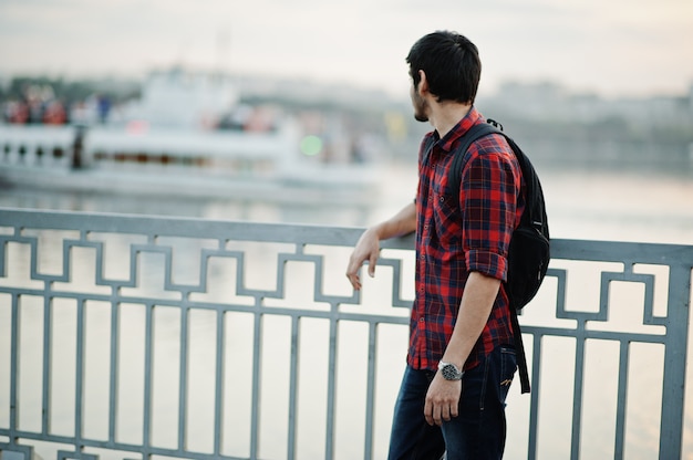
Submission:
<svg viewBox="0 0 693 460">
<path fill-rule="evenodd" d="M 418 153 L 416 299 L 407 356 L 407 363 L 416 369 L 437 368 L 453 334 L 469 272 L 506 280 L 510 236 L 525 207 L 519 165 L 500 135 L 472 144 L 458 197 L 447 192 L 454 149 L 477 123 L 484 119 L 473 107 L 442 139 L 437 139 L 437 132 L 428 133 Z M 430 136 L 437 142 L 425 155 Z M 513 343 L 508 297 L 501 284 L 464 368 L 476 366 L 496 346 Z"/>
</svg>

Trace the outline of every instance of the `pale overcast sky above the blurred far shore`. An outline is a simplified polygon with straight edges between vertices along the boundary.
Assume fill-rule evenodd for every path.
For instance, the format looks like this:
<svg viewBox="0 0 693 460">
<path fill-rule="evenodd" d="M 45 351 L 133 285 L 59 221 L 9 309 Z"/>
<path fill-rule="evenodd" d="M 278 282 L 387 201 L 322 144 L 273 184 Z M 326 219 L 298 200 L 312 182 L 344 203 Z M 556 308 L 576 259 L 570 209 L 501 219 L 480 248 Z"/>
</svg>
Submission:
<svg viewBox="0 0 693 460">
<path fill-rule="evenodd" d="M 183 64 L 408 94 L 405 56 L 453 30 L 482 85 L 685 95 L 693 0 L 0 0 L 0 75 L 142 76 Z"/>
</svg>

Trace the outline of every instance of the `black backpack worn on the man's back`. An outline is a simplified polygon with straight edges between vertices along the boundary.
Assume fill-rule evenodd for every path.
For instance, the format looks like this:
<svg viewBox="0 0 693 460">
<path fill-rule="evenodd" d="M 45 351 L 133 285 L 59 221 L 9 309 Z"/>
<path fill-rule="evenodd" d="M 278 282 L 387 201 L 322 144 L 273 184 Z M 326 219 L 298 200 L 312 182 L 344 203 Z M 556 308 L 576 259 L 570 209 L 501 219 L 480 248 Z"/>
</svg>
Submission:
<svg viewBox="0 0 693 460">
<path fill-rule="evenodd" d="M 518 145 L 503 132 L 503 126 L 493 119 L 474 125 L 461 139 L 455 149 L 455 157 L 449 168 L 447 189 L 455 196 L 459 194 L 462 169 L 467 160 L 467 150 L 472 143 L 489 134 L 503 135 L 517 157 L 525 180 L 525 211 L 520 223 L 513 232 L 508 249 L 508 276 L 505 290 L 510 301 L 510 317 L 515 331 L 517 364 L 523 393 L 529 391 L 529 375 L 523 346 L 523 335 L 517 321 L 521 310 L 539 291 L 550 260 L 549 223 L 546 216 L 541 184 L 529 158 Z M 432 147 L 428 146 L 428 147 Z M 426 150 L 430 151 L 430 148 Z M 457 202 L 457 201 L 455 201 Z"/>
</svg>

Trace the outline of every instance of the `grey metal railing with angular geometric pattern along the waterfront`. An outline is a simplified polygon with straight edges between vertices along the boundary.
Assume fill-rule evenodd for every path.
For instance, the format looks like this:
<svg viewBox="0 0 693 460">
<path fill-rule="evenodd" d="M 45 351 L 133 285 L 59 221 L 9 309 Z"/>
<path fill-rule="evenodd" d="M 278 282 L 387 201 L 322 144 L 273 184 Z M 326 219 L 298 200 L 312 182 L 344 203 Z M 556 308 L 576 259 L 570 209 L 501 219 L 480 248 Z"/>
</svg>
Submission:
<svg viewBox="0 0 693 460">
<path fill-rule="evenodd" d="M 360 233 L 1 209 L 0 454 L 381 458 L 413 242 L 384 242 L 359 294 Z M 506 457 L 680 458 L 693 247 L 552 255 Z"/>
</svg>

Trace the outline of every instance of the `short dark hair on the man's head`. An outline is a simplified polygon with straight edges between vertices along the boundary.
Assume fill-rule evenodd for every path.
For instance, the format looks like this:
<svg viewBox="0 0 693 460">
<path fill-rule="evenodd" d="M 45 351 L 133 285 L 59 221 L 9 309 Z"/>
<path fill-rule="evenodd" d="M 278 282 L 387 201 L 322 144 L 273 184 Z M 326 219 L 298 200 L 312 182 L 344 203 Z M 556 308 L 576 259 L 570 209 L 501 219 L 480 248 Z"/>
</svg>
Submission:
<svg viewBox="0 0 693 460">
<path fill-rule="evenodd" d="M 456 32 L 437 31 L 421 38 L 406 56 L 414 87 L 424 71 L 428 90 L 438 101 L 474 104 L 482 61 L 474 43 Z"/>
</svg>

